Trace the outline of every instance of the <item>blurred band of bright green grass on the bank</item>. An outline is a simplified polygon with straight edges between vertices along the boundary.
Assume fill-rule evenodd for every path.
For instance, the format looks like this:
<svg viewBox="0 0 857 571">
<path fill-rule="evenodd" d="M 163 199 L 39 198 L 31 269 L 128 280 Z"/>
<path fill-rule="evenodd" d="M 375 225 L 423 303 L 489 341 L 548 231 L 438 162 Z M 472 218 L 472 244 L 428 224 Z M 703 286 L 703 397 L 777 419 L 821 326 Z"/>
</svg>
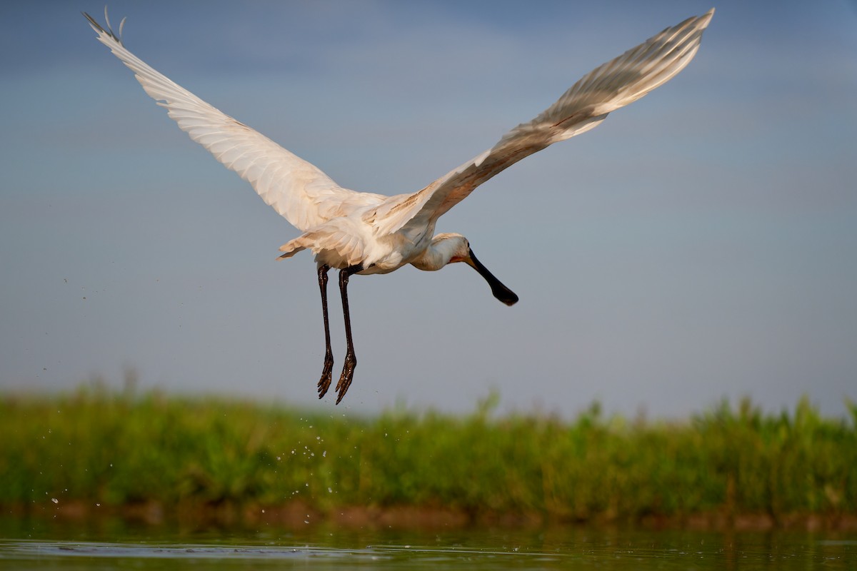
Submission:
<svg viewBox="0 0 857 571">
<path fill-rule="evenodd" d="M 857 515 L 857 406 L 682 423 L 389 412 L 353 417 L 85 389 L 0 399 L 0 505 L 428 509 L 554 521 Z M 58 508 L 57 508 L 58 509 Z"/>
</svg>

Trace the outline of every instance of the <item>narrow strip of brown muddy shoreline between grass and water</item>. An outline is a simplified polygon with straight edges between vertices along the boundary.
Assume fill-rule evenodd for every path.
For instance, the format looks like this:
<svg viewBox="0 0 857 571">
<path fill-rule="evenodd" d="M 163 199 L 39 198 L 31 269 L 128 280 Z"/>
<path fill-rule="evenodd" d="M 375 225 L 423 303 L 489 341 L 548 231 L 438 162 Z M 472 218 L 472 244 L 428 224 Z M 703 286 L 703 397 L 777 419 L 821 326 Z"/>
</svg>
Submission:
<svg viewBox="0 0 857 571">
<path fill-rule="evenodd" d="M 636 518 L 595 516 L 591 518 L 560 518 L 536 513 L 479 512 L 470 514 L 462 509 L 429 506 L 343 506 L 321 511 L 307 503 L 291 502 L 279 506 L 256 504 L 238 505 L 188 503 L 171 508 L 159 502 L 134 503 L 124 506 L 102 506 L 82 500 L 39 506 L 2 506 L 7 516 L 30 517 L 38 520 L 94 521 L 119 519 L 146 526 L 212 525 L 256 526 L 259 524 L 284 527 L 333 526 L 339 528 L 393 529 L 466 529 L 471 527 L 550 528 L 568 526 L 614 527 L 641 529 L 686 529 L 711 532 L 769 532 L 781 531 L 857 531 L 854 514 L 727 514 L 710 512 L 698 514 L 648 514 Z"/>
</svg>

